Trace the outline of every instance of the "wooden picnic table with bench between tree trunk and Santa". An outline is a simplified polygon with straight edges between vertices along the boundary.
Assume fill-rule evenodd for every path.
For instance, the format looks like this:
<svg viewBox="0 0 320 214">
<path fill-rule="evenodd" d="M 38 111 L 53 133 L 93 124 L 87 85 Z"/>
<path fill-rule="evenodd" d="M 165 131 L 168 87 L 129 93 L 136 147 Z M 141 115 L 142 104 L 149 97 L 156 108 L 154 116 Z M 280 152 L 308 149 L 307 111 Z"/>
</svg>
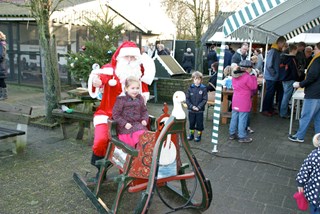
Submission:
<svg viewBox="0 0 320 214">
<path fill-rule="evenodd" d="M 59 105 L 65 105 L 71 109 L 74 109 L 77 105 L 83 104 L 83 101 L 80 99 L 66 99 L 66 100 L 61 100 L 59 102 Z M 55 119 L 58 121 L 60 124 L 61 132 L 63 135 L 63 138 L 67 138 L 67 131 L 66 131 L 66 124 L 67 123 L 73 123 L 73 122 L 78 122 L 79 123 L 79 128 L 78 128 L 78 133 L 76 136 L 77 140 L 81 140 L 83 138 L 84 134 L 84 129 L 88 128 L 88 137 L 89 141 L 92 139 L 92 133 L 91 133 L 91 127 L 92 127 L 92 122 L 93 122 L 93 112 L 82 112 L 79 110 L 73 110 L 71 113 L 64 112 L 61 108 L 60 109 L 53 109 L 52 115 L 55 117 Z"/>
</svg>

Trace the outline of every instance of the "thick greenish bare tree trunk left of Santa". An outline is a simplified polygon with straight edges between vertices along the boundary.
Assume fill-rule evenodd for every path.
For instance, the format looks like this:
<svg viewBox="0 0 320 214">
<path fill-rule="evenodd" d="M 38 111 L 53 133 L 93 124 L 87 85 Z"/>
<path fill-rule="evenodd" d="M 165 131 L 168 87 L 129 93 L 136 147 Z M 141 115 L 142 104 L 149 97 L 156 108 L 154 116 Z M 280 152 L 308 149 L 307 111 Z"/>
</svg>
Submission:
<svg viewBox="0 0 320 214">
<path fill-rule="evenodd" d="M 52 110 L 61 98 L 60 78 L 55 37 L 51 32 L 51 14 L 64 0 L 15 0 L 4 1 L 28 8 L 38 26 L 43 89 L 45 94 L 45 122 L 53 122 Z"/>
</svg>

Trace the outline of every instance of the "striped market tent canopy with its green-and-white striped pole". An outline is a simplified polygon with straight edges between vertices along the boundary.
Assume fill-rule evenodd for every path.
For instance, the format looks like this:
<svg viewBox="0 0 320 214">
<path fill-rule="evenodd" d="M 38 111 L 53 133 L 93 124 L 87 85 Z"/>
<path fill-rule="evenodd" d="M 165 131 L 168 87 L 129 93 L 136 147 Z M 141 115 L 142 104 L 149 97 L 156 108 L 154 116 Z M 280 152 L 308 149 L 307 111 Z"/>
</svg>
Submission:
<svg viewBox="0 0 320 214">
<path fill-rule="evenodd" d="M 279 36 L 290 39 L 319 25 L 319 10 L 319 0 L 255 0 L 229 16 L 224 21 L 222 32 L 224 38 L 249 38 L 251 49 L 253 40 L 268 44 Z M 213 113 L 212 152 L 217 152 L 218 144 L 224 49 L 225 41 L 222 40 Z"/>
</svg>

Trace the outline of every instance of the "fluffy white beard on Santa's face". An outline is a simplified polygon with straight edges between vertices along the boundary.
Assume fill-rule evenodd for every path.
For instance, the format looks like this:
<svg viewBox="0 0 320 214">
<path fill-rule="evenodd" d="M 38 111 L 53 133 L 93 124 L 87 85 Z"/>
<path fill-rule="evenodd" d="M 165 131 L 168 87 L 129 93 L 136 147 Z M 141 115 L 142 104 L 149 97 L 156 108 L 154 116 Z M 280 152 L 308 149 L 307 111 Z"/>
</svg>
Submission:
<svg viewBox="0 0 320 214">
<path fill-rule="evenodd" d="M 115 69 L 115 73 L 122 84 L 124 84 L 126 78 L 130 76 L 134 76 L 140 79 L 142 74 L 140 62 L 138 60 L 128 62 L 124 58 L 119 58 Z"/>
</svg>

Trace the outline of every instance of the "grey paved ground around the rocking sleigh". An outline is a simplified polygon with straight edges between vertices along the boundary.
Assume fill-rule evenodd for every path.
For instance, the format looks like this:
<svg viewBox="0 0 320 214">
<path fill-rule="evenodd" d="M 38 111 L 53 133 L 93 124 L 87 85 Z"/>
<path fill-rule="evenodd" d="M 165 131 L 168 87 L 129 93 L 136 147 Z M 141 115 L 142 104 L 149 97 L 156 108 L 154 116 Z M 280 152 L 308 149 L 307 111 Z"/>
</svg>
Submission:
<svg viewBox="0 0 320 214">
<path fill-rule="evenodd" d="M 9 86 L 6 102 L 33 106 L 34 117 L 44 112 L 43 93 L 38 89 Z M 162 104 L 148 104 L 150 114 L 155 116 L 161 114 L 161 108 Z M 3 124 L 13 127 L 10 123 Z M 219 152 L 211 154 L 211 120 L 205 123 L 202 142 L 191 142 L 213 186 L 213 203 L 205 213 L 303 213 L 297 211 L 292 195 L 296 191 L 297 170 L 313 149 L 312 127 L 305 143 L 298 144 L 287 140 L 289 120 L 252 114 L 251 124 L 255 130 L 251 144 L 227 140 L 228 126 L 221 125 Z M 295 121 L 294 130 L 297 126 Z M 12 155 L 9 142 L 1 141 L 0 213 L 96 213 L 72 180 L 73 172 L 93 171 L 89 164 L 91 148 L 87 139 L 72 138 L 76 124 L 68 127 L 68 131 L 70 138 L 63 140 L 59 128 L 30 126 L 27 150 L 19 156 Z M 159 200 L 155 198 L 155 202 Z M 153 203 L 151 210 L 168 211 L 160 203 L 157 206 Z"/>
</svg>

